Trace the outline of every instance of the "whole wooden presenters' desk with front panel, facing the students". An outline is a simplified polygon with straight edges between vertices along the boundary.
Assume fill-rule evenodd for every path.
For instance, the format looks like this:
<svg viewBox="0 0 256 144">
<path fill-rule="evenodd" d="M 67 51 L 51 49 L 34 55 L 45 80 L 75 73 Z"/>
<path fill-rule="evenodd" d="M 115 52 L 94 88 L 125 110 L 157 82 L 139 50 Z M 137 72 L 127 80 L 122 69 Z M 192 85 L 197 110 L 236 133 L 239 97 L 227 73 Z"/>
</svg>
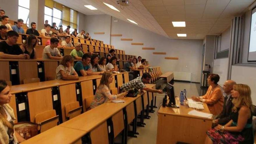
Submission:
<svg viewBox="0 0 256 144">
<path fill-rule="evenodd" d="M 204 108 L 202 112 L 210 113 L 205 103 Z M 204 143 L 212 119 L 189 115 L 191 110 L 186 104 L 180 105 L 178 109 L 161 106 L 158 111 L 157 144 Z"/>
</svg>

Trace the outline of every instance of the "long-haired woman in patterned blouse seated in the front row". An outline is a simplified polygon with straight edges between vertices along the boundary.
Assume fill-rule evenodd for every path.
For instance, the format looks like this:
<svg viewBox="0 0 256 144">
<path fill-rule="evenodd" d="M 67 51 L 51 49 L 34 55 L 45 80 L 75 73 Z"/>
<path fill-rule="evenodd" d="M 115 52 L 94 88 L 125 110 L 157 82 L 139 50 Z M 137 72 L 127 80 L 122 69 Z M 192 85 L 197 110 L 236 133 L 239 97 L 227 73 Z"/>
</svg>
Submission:
<svg viewBox="0 0 256 144">
<path fill-rule="evenodd" d="M 93 97 L 93 101 L 90 108 L 93 109 L 109 100 L 115 100 L 117 98 L 124 98 L 128 92 L 123 92 L 118 95 L 111 95 L 109 90 L 109 84 L 113 82 L 113 76 L 111 72 L 104 72 L 102 78 L 100 79 L 99 86 Z"/>
</svg>

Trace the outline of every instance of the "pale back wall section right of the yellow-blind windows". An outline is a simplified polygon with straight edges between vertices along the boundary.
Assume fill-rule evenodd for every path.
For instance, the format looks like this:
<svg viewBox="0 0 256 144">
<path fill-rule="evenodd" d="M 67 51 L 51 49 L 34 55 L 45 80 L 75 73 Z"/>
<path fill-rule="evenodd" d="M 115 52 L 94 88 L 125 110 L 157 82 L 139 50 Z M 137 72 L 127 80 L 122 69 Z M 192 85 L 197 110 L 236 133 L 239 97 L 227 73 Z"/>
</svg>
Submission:
<svg viewBox="0 0 256 144">
<path fill-rule="evenodd" d="M 90 33 L 91 38 L 102 40 L 105 44 L 110 44 L 110 15 L 86 15 L 84 19 L 85 31 Z M 82 29 L 79 29 L 81 31 Z M 95 32 L 104 32 L 105 34 L 95 35 Z"/>
</svg>

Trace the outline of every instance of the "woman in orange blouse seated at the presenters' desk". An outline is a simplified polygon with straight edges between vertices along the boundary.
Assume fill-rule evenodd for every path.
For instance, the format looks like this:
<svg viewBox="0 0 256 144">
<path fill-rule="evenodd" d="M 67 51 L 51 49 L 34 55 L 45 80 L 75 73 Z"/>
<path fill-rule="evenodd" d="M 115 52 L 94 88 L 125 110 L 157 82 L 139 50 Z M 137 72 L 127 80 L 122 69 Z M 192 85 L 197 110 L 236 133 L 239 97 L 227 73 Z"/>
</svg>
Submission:
<svg viewBox="0 0 256 144">
<path fill-rule="evenodd" d="M 207 82 L 210 85 L 206 94 L 201 97 L 192 96 L 194 101 L 204 102 L 207 104 L 213 115 L 218 115 L 223 109 L 224 97 L 220 86 L 217 84 L 220 80 L 218 74 L 210 74 Z"/>
</svg>

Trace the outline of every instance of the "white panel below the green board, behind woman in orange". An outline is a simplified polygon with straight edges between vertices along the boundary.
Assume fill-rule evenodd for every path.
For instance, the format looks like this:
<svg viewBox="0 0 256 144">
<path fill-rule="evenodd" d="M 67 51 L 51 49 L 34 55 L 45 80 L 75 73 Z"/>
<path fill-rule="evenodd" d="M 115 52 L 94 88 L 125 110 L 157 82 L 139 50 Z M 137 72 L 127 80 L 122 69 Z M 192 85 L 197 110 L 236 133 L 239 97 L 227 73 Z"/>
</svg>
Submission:
<svg viewBox="0 0 256 144">
<path fill-rule="evenodd" d="M 223 86 L 224 82 L 227 80 L 227 67 L 228 67 L 228 58 L 219 58 L 214 60 L 214 69 L 213 73 L 220 76 L 219 85 Z"/>
</svg>

